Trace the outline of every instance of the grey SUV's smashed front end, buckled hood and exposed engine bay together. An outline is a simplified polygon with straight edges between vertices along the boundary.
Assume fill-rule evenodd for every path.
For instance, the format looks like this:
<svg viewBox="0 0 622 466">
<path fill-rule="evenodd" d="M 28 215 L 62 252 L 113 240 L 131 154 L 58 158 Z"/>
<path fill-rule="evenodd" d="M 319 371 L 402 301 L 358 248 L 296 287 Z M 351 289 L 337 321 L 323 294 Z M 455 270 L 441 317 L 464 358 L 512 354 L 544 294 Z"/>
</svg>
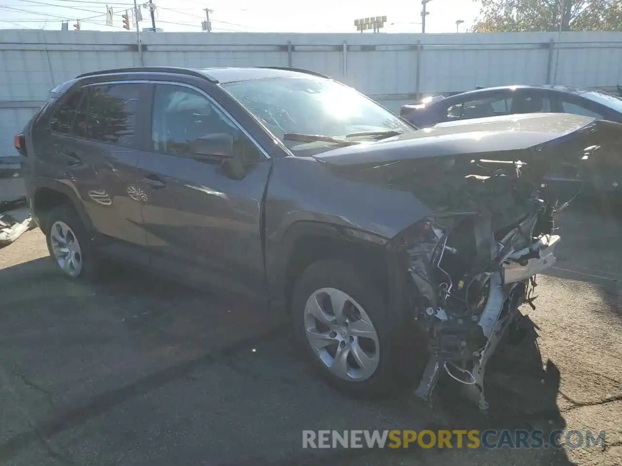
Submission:
<svg viewBox="0 0 622 466">
<path fill-rule="evenodd" d="M 374 207 L 373 222 L 348 221 L 390 238 L 400 274 L 391 280 L 394 304 L 427 345 L 420 398 L 430 400 L 446 374 L 488 408 L 486 365 L 504 334 L 520 336 L 519 306 L 534 307 L 536 275 L 555 263 L 555 213 L 585 185 L 617 186 L 621 134 L 613 122 L 524 114 L 439 124 L 317 157 Z M 569 199 L 561 206 L 560 196 Z"/>
</svg>

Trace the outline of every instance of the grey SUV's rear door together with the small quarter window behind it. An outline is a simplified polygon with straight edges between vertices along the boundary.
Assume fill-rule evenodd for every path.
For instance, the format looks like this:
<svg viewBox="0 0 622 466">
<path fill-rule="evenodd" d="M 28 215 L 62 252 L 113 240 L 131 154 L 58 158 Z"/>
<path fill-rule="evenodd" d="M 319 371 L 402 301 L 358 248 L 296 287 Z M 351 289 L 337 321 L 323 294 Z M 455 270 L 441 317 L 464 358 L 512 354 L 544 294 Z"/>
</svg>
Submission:
<svg viewBox="0 0 622 466">
<path fill-rule="evenodd" d="M 93 223 L 98 246 L 122 259 L 149 260 L 137 191 L 136 132 L 146 84 L 78 89 L 50 121 L 53 152 Z M 78 102 L 79 96 L 79 102 Z"/>
</svg>

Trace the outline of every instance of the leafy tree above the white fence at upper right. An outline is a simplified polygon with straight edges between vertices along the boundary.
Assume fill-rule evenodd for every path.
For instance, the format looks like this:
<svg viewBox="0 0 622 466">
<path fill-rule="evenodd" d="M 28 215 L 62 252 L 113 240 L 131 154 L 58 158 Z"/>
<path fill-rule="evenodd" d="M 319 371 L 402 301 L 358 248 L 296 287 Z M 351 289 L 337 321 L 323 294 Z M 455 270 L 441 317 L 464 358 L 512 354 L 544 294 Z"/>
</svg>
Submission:
<svg viewBox="0 0 622 466">
<path fill-rule="evenodd" d="M 561 21 L 562 30 L 622 31 L 622 0 L 481 0 L 471 31 L 557 31 Z"/>
</svg>

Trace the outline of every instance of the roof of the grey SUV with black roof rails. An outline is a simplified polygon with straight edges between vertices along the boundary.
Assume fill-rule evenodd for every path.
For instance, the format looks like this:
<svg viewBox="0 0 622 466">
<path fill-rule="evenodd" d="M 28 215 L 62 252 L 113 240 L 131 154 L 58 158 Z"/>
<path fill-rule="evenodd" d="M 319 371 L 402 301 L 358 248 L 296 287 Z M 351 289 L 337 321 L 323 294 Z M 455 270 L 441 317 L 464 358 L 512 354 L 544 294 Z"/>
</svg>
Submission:
<svg viewBox="0 0 622 466">
<path fill-rule="evenodd" d="M 93 71 L 84 73 L 78 78 L 86 76 L 111 75 L 118 73 L 172 73 L 181 75 L 200 76 L 207 78 L 212 83 L 233 83 L 234 81 L 258 80 L 266 78 L 293 78 L 304 75 L 320 76 L 328 78 L 315 71 L 302 70 L 300 68 L 287 68 L 281 66 L 257 66 L 239 68 L 233 66 L 213 66 L 210 68 L 182 68 L 177 66 L 137 66 L 133 68 L 114 68 L 111 70 Z"/>
</svg>

